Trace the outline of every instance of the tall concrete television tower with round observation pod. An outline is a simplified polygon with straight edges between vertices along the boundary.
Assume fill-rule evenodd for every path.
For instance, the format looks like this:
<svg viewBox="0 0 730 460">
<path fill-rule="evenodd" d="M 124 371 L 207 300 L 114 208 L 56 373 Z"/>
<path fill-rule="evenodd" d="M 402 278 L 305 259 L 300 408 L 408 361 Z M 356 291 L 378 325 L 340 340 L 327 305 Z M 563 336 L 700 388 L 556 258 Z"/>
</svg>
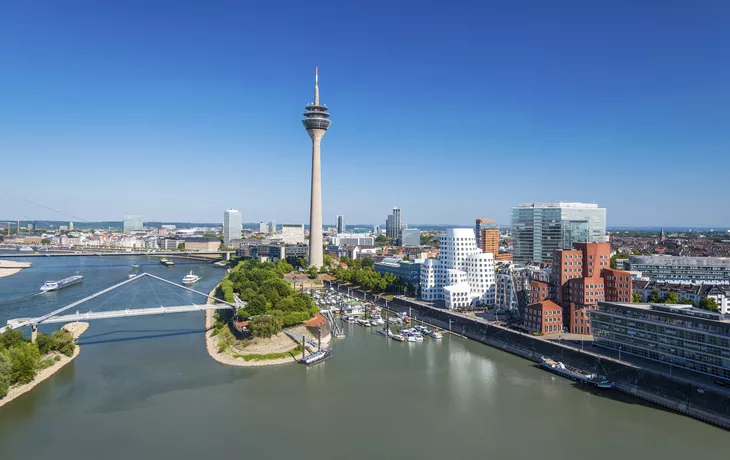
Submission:
<svg viewBox="0 0 730 460">
<path fill-rule="evenodd" d="M 314 71 L 314 102 L 306 106 L 304 129 L 312 138 L 312 198 L 309 204 L 309 266 L 322 266 L 322 167 L 319 146 L 332 121 L 326 105 L 319 105 L 319 68 Z"/>
</svg>

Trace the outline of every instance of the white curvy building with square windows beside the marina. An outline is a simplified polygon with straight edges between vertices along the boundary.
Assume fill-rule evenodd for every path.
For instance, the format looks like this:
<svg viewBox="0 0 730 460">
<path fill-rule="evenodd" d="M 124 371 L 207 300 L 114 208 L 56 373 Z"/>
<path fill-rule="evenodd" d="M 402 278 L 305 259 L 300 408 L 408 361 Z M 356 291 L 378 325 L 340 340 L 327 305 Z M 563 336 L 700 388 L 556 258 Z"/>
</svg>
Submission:
<svg viewBox="0 0 730 460">
<path fill-rule="evenodd" d="M 494 305 L 495 290 L 494 255 L 482 253 L 471 228 L 448 229 L 439 258 L 421 265 L 421 298 L 444 300 L 446 308 Z"/>
</svg>

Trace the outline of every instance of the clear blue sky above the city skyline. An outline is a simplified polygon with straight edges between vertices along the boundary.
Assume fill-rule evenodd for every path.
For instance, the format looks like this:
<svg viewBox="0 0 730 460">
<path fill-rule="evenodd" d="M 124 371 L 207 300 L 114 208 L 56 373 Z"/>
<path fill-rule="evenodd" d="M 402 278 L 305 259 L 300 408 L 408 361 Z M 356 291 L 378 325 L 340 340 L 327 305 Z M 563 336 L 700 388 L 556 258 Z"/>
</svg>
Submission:
<svg viewBox="0 0 730 460">
<path fill-rule="evenodd" d="M 730 225 L 730 2 L 5 1 L 0 188 L 87 220 Z M 0 218 L 66 219 L 0 193 Z"/>
</svg>

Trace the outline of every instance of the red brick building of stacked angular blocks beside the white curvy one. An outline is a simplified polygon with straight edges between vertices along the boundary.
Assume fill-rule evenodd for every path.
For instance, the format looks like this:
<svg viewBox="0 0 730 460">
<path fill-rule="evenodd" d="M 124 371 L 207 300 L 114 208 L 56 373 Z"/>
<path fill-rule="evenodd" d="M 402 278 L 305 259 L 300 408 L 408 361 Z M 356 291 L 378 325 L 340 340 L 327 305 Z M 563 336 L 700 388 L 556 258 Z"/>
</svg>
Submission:
<svg viewBox="0 0 730 460">
<path fill-rule="evenodd" d="M 612 270 L 610 243 L 575 243 L 555 251 L 552 283 L 563 308 L 563 322 L 572 333 L 592 334 L 587 310 L 599 301 L 630 302 L 631 275 Z"/>
</svg>

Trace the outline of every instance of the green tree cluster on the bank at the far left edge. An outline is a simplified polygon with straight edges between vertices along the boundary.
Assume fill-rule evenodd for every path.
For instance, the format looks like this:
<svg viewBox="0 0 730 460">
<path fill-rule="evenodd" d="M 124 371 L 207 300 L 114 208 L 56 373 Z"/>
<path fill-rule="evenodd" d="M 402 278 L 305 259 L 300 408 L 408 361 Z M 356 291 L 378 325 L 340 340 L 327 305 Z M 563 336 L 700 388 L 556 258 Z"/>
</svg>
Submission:
<svg viewBox="0 0 730 460">
<path fill-rule="evenodd" d="M 43 356 L 54 351 L 71 356 L 75 348 L 73 336 L 64 329 L 50 336 L 39 333 L 35 343 L 25 339 L 22 332 L 8 329 L 0 335 L 0 398 L 11 386 L 32 382 L 39 370 L 60 359 Z"/>
</svg>

